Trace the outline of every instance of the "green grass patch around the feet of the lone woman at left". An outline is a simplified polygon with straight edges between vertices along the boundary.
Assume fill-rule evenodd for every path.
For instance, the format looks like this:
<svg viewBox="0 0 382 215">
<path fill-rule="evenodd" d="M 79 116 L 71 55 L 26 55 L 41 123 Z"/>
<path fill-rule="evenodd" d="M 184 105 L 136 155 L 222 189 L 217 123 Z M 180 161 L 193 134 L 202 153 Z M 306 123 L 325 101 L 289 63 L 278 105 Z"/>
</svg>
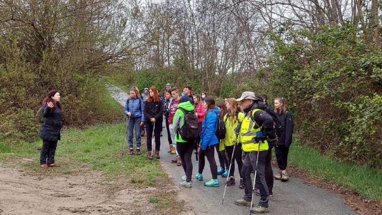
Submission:
<svg viewBox="0 0 382 215">
<path fill-rule="evenodd" d="M 24 143 L 11 148 L 0 144 L 0 159 L 11 157 L 32 158 L 35 162 L 26 162 L 25 168 L 32 171 L 57 171 L 71 174 L 79 165 L 89 169 L 102 171 L 108 181 L 125 177 L 128 181 L 145 186 L 155 186 L 167 176 L 161 171 L 158 160 L 148 160 L 146 150 L 142 148 L 142 155 L 127 155 L 127 142 L 125 153 L 122 156 L 125 124 L 96 125 L 86 130 L 68 129 L 62 132 L 62 141 L 58 142 L 56 161 L 60 168 L 41 169 L 39 167 L 39 153 L 41 140 L 33 144 Z"/>
</svg>

